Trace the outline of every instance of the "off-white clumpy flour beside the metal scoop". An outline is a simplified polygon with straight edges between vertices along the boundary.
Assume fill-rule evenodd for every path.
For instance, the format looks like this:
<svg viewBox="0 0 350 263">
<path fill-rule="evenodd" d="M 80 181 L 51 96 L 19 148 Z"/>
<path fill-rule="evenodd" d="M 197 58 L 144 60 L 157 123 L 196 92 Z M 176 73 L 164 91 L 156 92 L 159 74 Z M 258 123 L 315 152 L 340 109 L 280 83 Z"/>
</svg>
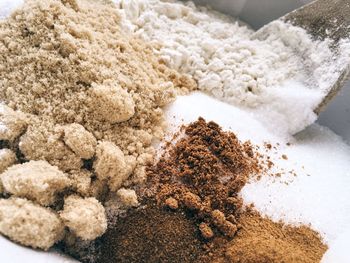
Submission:
<svg viewBox="0 0 350 263">
<path fill-rule="evenodd" d="M 270 128 L 279 133 L 294 134 L 316 120 L 313 110 L 350 61 L 347 54 L 335 63 L 327 41 L 280 21 L 256 35 L 192 2 L 115 2 L 125 28 L 158 44 L 168 66 L 191 74 L 216 98 L 252 109 L 265 124 L 273 120 Z"/>
</svg>

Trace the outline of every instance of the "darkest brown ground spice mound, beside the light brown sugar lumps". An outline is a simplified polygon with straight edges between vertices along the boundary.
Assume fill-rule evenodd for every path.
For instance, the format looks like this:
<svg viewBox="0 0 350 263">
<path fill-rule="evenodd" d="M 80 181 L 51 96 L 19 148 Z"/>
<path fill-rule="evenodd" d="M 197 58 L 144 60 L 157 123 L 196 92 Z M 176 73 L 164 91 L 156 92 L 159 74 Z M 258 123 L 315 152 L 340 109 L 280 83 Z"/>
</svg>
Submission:
<svg viewBox="0 0 350 263">
<path fill-rule="evenodd" d="M 158 207 L 118 219 L 100 244 L 100 257 L 92 262 L 195 262 L 203 251 L 191 220 Z"/>
</svg>

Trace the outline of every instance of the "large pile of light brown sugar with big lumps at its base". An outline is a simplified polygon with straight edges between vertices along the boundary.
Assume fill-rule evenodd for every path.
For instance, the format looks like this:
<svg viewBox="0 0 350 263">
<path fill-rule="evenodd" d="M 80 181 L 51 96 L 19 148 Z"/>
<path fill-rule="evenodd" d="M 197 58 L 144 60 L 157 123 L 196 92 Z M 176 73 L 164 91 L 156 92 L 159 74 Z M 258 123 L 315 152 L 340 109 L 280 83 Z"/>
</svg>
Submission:
<svg viewBox="0 0 350 263">
<path fill-rule="evenodd" d="M 0 232 L 12 240 L 46 250 L 101 236 L 109 191 L 145 180 L 161 107 L 196 88 L 120 19 L 111 1 L 28 0 L 0 22 Z M 51 220 L 39 212 L 56 220 L 46 243 L 30 238 Z"/>
</svg>

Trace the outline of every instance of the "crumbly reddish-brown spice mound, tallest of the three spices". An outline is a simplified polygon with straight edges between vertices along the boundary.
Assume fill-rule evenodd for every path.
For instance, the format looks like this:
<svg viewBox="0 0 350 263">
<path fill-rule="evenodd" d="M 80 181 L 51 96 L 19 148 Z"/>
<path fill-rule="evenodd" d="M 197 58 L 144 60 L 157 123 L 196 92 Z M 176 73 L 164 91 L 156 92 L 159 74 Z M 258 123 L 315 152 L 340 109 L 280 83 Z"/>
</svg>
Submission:
<svg viewBox="0 0 350 263">
<path fill-rule="evenodd" d="M 191 214 L 204 238 L 234 237 L 242 208 L 238 193 L 259 173 L 258 155 L 249 142 L 204 119 L 183 128 L 184 136 L 148 169 L 148 195 L 161 206 Z"/>
</svg>

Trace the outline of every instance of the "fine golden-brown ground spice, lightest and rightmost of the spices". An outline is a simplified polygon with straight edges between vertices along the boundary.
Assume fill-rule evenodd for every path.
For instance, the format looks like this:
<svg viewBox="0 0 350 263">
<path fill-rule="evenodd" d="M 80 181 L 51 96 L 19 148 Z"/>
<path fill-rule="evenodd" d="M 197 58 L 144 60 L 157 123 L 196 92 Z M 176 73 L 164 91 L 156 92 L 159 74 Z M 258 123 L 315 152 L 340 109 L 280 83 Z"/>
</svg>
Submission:
<svg viewBox="0 0 350 263">
<path fill-rule="evenodd" d="M 215 263 L 316 263 L 327 246 L 307 226 L 285 226 L 261 217 L 254 211 L 241 215 L 242 229 L 235 238 L 213 252 Z"/>
</svg>

